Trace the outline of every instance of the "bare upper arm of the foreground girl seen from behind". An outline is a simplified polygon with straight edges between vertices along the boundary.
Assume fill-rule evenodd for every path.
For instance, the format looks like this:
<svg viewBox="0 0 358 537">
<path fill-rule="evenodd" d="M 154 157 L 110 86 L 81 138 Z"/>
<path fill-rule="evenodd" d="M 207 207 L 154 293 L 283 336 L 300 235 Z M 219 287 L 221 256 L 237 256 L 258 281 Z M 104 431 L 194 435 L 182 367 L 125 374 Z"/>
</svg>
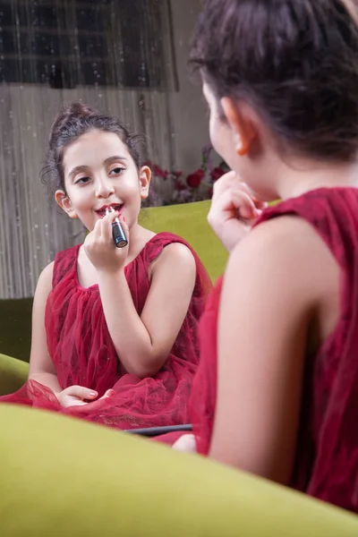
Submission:
<svg viewBox="0 0 358 537">
<path fill-rule="evenodd" d="M 254 228 L 234 250 L 219 311 L 209 456 L 289 482 L 309 325 L 327 296 L 338 295 L 338 277 L 336 260 L 298 217 Z M 336 322 L 331 316 L 329 328 Z"/>
</svg>

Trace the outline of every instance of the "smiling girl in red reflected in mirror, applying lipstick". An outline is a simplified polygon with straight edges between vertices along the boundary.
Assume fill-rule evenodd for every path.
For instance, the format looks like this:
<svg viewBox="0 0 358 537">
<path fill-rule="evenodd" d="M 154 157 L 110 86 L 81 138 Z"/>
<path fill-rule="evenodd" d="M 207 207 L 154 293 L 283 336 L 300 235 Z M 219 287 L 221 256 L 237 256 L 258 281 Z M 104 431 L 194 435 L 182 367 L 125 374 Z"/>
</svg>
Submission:
<svg viewBox="0 0 358 537">
<path fill-rule="evenodd" d="M 39 277 L 29 381 L 3 402 L 119 429 L 188 422 L 209 278 L 181 238 L 138 224 L 150 182 L 141 144 L 80 102 L 57 116 L 47 172 L 58 205 L 90 234 Z M 127 247 L 115 247 L 115 217 Z"/>
</svg>

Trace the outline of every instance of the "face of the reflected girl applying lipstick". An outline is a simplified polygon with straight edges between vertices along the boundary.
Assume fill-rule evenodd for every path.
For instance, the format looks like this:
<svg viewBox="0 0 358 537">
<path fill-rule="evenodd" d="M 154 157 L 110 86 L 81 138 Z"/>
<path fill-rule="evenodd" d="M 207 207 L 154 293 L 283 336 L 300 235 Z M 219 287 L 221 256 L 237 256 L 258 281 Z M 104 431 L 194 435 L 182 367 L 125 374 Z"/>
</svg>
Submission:
<svg viewBox="0 0 358 537">
<path fill-rule="evenodd" d="M 91 231 L 112 207 L 129 228 L 137 223 L 141 200 L 149 193 L 150 170 L 143 166 L 138 171 L 117 134 L 82 134 L 64 150 L 63 168 L 66 192 L 55 192 L 55 200 L 69 217 L 80 218 Z"/>
</svg>

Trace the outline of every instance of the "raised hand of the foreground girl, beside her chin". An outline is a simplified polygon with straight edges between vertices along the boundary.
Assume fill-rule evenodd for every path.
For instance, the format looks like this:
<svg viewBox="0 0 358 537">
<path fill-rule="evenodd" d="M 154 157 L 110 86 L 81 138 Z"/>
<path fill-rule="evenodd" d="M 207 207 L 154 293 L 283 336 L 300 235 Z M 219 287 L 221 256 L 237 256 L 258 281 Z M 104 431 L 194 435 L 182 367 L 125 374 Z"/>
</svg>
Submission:
<svg viewBox="0 0 358 537">
<path fill-rule="evenodd" d="M 265 203 L 252 197 L 247 185 L 234 172 L 228 172 L 214 184 L 209 225 L 226 250 L 232 251 L 249 233 L 253 222 L 265 207 Z"/>
</svg>

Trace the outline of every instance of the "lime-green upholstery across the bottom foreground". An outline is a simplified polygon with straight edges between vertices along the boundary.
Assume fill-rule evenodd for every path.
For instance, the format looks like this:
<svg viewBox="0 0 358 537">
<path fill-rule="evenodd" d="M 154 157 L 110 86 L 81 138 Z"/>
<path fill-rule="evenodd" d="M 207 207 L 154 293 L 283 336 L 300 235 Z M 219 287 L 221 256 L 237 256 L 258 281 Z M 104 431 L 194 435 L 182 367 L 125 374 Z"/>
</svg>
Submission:
<svg viewBox="0 0 358 537">
<path fill-rule="evenodd" d="M 4 537 L 356 537 L 358 517 L 200 456 L 0 405 Z"/>
</svg>

